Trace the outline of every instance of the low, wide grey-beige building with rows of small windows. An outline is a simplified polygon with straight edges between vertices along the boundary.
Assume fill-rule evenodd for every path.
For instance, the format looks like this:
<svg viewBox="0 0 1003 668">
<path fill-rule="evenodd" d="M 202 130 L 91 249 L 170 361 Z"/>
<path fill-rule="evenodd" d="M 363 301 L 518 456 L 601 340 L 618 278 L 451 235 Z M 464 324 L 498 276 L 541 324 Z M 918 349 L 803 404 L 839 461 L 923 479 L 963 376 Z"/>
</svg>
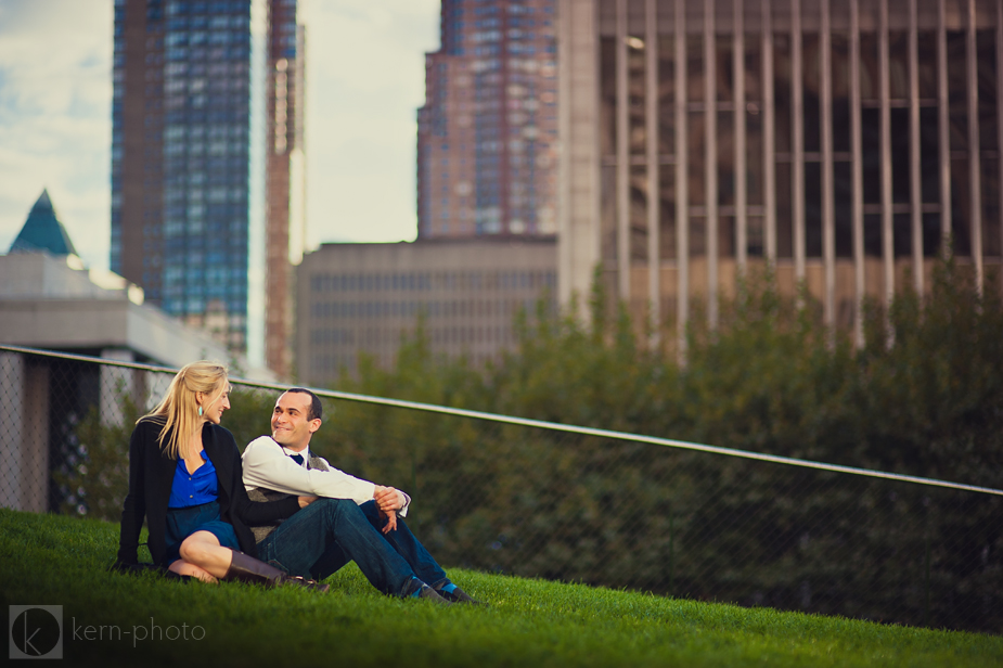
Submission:
<svg viewBox="0 0 1003 668">
<path fill-rule="evenodd" d="M 393 365 L 419 317 L 434 356 L 499 359 L 519 309 L 553 308 L 554 237 L 322 244 L 297 269 L 298 381 L 327 386 L 361 355 Z"/>
</svg>

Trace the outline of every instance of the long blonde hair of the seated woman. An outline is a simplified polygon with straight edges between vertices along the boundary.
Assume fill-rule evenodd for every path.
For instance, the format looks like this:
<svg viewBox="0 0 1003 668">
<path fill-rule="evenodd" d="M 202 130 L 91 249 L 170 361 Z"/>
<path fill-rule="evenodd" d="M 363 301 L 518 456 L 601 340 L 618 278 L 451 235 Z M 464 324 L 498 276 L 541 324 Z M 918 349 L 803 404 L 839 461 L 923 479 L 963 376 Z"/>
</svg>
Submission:
<svg viewBox="0 0 1003 668">
<path fill-rule="evenodd" d="M 181 448 L 196 429 L 201 420 L 198 415 L 197 393 L 207 395 L 205 407 L 211 406 L 230 389 L 227 367 L 219 362 L 201 360 L 185 364 L 170 382 L 167 395 L 152 411 L 140 418 L 165 418 L 164 428 L 157 436 L 160 449 L 170 459 L 178 459 Z M 169 435 L 169 438 L 168 438 Z M 166 442 L 165 442 L 166 440 Z"/>
</svg>

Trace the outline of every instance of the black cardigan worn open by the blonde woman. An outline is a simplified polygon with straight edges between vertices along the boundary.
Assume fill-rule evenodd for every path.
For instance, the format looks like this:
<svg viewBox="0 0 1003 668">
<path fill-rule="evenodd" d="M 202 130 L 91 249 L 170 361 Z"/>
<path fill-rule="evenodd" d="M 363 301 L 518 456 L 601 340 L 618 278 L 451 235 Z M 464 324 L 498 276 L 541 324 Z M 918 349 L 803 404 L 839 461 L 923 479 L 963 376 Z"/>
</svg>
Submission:
<svg viewBox="0 0 1003 668">
<path fill-rule="evenodd" d="M 147 547 L 155 564 L 166 566 L 167 503 L 178 460 L 170 459 L 157 444 L 164 426 L 159 416 L 144 418 L 132 431 L 129 439 L 129 493 L 121 511 L 121 534 L 118 539 L 118 563 L 138 562 L 139 535 L 146 519 L 150 532 Z M 169 437 L 169 434 L 168 434 Z M 165 439 L 166 440 L 166 439 Z M 233 435 L 223 427 L 205 423 L 202 442 L 206 455 L 216 467 L 219 516 L 233 525 L 241 551 L 256 556 L 254 535 L 248 526 L 275 524 L 299 510 L 297 497 L 280 501 L 254 502 L 244 488 L 241 454 Z"/>
</svg>

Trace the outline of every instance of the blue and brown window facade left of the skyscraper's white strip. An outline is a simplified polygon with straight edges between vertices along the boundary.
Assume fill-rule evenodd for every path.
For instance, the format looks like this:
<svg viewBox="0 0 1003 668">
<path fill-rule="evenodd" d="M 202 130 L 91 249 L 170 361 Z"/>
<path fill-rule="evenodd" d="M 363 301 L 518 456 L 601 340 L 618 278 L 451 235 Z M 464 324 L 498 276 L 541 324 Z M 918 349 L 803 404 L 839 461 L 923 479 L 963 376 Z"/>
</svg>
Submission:
<svg viewBox="0 0 1003 668">
<path fill-rule="evenodd" d="M 116 0 L 111 267 L 244 350 L 252 0 Z"/>
</svg>

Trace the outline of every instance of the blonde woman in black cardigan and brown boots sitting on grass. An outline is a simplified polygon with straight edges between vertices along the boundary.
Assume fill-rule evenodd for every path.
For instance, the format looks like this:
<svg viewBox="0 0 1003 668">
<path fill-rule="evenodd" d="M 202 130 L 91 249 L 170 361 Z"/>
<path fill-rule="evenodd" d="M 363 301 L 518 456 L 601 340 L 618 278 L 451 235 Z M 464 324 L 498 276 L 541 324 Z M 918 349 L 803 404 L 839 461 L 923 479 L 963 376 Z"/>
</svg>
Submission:
<svg viewBox="0 0 1003 668">
<path fill-rule="evenodd" d="M 192 362 L 171 381 L 164 400 L 136 423 L 129 440 L 129 493 L 121 511 L 117 565 L 138 563 L 145 517 L 154 563 L 179 576 L 327 591 L 326 584 L 290 577 L 254 558 L 248 525 L 274 524 L 316 497 L 267 503 L 247 498 L 236 442 L 219 426 L 230 408 L 229 395 L 226 367 Z"/>
</svg>

